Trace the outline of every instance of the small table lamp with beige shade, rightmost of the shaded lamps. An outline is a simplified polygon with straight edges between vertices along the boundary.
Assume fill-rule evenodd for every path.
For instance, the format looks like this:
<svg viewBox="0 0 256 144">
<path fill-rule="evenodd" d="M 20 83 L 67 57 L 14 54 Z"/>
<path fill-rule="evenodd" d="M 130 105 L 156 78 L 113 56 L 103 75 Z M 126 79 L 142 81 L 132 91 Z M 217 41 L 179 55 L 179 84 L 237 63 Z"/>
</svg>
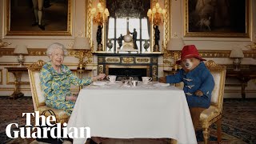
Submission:
<svg viewBox="0 0 256 144">
<path fill-rule="evenodd" d="M 244 54 L 240 48 L 234 48 L 230 53 L 230 58 L 234 58 L 234 70 L 238 71 L 238 66 L 241 64 L 241 59 L 244 58 Z"/>
</svg>

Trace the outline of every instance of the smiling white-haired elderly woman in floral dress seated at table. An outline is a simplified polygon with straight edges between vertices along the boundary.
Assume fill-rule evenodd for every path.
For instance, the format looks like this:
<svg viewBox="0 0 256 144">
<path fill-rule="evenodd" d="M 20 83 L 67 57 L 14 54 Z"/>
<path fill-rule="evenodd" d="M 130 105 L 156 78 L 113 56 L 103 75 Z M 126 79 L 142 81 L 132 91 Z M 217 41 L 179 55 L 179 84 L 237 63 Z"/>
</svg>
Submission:
<svg viewBox="0 0 256 144">
<path fill-rule="evenodd" d="M 42 66 L 40 73 L 46 106 L 64 110 L 66 114 L 70 115 L 77 99 L 76 96 L 71 94 L 70 85 L 89 85 L 91 82 L 105 78 L 105 74 L 99 74 L 93 78 L 80 79 L 76 77 L 67 66 L 62 64 L 67 51 L 65 46 L 58 42 L 48 46 L 46 54 L 49 56 L 50 62 Z M 98 138 L 96 138 L 96 141 L 98 141 Z"/>
</svg>

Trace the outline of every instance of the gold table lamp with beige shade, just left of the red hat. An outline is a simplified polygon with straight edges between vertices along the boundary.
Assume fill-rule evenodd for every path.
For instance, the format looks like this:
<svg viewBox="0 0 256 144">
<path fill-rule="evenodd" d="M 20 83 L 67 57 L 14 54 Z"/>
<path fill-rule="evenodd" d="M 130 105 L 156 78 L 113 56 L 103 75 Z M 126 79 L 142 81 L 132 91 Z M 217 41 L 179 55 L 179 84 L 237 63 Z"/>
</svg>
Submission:
<svg viewBox="0 0 256 144">
<path fill-rule="evenodd" d="M 170 41 L 167 44 L 166 50 L 182 50 L 182 47 L 185 45 L 182 38 L 178 38 L 177 35 L 174 35 L 174 38 L 170 38 Z M 174 70 L 178 70 L 178 65 L 176 61 L 178 61 L 178 54 L 174 53 Z"/>
</svg>

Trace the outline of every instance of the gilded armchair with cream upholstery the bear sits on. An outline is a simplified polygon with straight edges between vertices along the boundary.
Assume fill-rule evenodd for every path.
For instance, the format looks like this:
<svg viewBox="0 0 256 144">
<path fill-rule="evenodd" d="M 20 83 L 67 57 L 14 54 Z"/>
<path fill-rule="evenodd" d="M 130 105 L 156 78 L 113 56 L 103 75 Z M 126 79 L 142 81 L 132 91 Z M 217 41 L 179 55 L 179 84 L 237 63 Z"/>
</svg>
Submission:
<svg viewBox="0 0 256 144">
<path fill-rule="evenodd" d="M 202 124 L 202 133 L 204 138 L 204 143 L 209 142 L 211 126 L 214 122 L 217 122 L 217 134 L 218 143 L 222 141 L 222 104 L 224 96 L 224 87 L 226 79 L 226 66 L 221 66 L 216 64 L 214 61 L 210 60 L 206 62 L 206 67 L 210 70 L 210 73 L 214 77 L 214 90 L 212 92 L 210 107 L 200 115 L 200 122 Z"/>
</svg>

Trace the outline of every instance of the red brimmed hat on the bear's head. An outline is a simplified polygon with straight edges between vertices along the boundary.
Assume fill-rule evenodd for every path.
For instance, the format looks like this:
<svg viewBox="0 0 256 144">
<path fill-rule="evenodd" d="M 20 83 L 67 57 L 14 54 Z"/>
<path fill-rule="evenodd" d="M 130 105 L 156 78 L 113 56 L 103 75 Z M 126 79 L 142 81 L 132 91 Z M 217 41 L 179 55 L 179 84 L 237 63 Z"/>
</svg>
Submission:
<svg viewBox="0 0 256 144">
<path fill-rule="evenodd" d="M 182 62 L 182 60 L 186 58 L 198 58 L 200 61 L 206 61 L 206 59 L 200 57 L 198 50 L 194 45 L 184 46 L 182 49 L 181 59 L 178 60 L 176 63 L 179 65 Z"/>
</svg>

